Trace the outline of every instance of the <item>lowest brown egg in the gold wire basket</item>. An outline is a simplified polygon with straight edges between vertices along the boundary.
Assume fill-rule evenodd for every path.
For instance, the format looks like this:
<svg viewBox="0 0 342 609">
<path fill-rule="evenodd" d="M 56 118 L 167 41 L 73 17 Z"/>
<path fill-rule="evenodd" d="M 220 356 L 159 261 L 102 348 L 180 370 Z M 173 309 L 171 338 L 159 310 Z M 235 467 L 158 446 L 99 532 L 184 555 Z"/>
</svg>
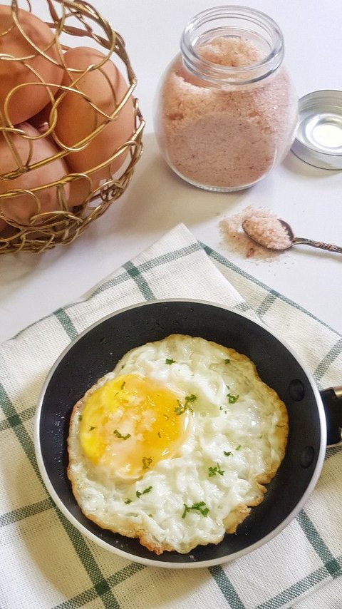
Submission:
<svg viewBox="0 0 342 609">
<path fill-rule="evenodd" d="M 31 138 L 36 138 L 39 135 L 39 132 L 28 123 L 23 123 L 18 128 L 22 129 Z M 46 138 L 28 140 L 17 133 L 9 133 L 8 137 L 23 165 L 26 165 L 28 162 L 30 165 L 38 163 L 40 160 L 50 158 L 58 152 L 56 146 Z M 31 152 L 31 158 L 29 158 Z M 0 132 L 0 175 L 14 172 L 17 168 L 18 163 L 16 163 L 14 153 L 9 148 L 4 138 L 4 133 Z M 39 168 L 22 173 L 18 178 L 0 180 L 0 195 L 17 189 L 32 190 L 33 188 L 61 180 L 66 173 L 68 173 L 66 163 L 63 159 L 58 158 L 50 163 L 41 165 Z M 64 189 L 67 200 L 70 191 L 69 185 L 66 184 Z M 9 221 L 18 222 L 21 225 L 28 225 L 31 217 L 36 213 L 52 212 L 61 209 L 56 186 L 42 188 L 42 190 L 38 190 L 34 194 L 38 201 L 35 196 L 28 193 L 18 193 L 18 195 L 11 198 L 0 198 L 0 210 L 4 213 L 5 218 L 8 218 Z"/>
</svg>

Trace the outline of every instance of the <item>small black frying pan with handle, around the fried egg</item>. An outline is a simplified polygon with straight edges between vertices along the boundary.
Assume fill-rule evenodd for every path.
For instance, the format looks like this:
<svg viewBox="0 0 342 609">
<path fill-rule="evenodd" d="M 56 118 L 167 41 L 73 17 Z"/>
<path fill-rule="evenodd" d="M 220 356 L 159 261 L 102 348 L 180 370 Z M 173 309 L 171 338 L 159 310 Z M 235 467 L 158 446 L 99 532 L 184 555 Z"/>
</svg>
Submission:
<svg viewBox="0 0 342 609">
<path fill-rule="evenodd" d="M 83 516 L 66 475 L 66 438 L 73 405 L 123 355 L 141 344 L 180 333 L 200 336 L 246 354 L 261 379 L 273 387 L 289 412 L 286 455 L 266 498 L 252 508 L 234 535 L 189 554 L 156 556 L 131 538 L 105 531 Z M 341 438 L 342 400 L 331 389 L 329 443 Z M 309 372 L 279 338 L 261 325 L 220 305 L 189 300 L 148 302 L 100 320 L 74 340 L 51 369 L 36 416 L 36 456 L 49 493 L 66 517 L 100 546 L 130 560 L 162 567 L 203 567 L 239 558 L 279 533 L 304 505 L 321 472 L 327 443 L 321 395 Z"/>
</svg>

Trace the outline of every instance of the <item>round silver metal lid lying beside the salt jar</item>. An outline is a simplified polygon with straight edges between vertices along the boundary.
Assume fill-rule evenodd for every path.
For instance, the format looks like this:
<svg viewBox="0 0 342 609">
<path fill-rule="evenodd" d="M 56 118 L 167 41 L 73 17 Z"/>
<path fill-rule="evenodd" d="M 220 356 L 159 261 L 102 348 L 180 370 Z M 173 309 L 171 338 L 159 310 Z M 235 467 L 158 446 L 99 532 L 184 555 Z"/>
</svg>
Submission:
<svg viewBox="0 0 342 609">
<path fill-rule="evenodd" d="M 300 98 L 291 150 L 315 167 L 342 169 L 342 91 L 314 91 Z"/>
</svg>

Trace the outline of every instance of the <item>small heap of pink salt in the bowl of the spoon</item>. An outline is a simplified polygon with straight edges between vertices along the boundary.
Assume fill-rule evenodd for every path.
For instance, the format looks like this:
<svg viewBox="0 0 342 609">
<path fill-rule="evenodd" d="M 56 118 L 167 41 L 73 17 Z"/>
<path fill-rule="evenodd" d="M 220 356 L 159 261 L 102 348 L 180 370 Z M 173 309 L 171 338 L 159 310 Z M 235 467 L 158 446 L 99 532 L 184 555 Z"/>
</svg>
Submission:
<svg viewBox="0 0 342 609">
<path fill-rule="evenodd" d="M 292 245 L 286 228 L 273 215 L 249 217 L 244 220 L 243 228 L 251 239 L 269 250 L 286 250 Z"/>
</svg>

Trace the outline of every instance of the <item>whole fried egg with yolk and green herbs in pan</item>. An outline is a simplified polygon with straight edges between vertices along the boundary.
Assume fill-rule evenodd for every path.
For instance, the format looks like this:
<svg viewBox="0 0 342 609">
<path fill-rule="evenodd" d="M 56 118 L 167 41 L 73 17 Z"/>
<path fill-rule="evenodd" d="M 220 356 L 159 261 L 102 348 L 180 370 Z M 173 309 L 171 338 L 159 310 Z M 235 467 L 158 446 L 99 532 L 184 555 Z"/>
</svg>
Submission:
<svg viewBox="0 0 342 609">
<path fill-rule="evenodd" d="M 284 402 L 248 357 L 172 334 L 125 354 L 74 406 L 68 477 L 98 526 L 187 553 L 261 503 L 288 431 Z"/>
</svg>

